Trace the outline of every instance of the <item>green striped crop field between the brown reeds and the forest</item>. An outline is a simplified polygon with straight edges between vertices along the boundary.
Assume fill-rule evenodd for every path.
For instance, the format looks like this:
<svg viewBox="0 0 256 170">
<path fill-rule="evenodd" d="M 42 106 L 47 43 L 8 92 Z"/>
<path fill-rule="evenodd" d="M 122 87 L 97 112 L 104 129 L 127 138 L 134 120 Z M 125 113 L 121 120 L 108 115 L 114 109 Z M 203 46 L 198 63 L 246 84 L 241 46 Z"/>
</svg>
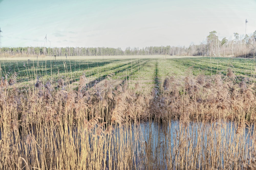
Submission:
<svg viewBox="0 0 256 170">
<path fill-rule="evenodd" d="M 30 59 L 28 61 L 28 59 Z M 183 56 L 98 56 L 98 57 L 20 57 L 2 58 L 1 77 L 17 73 L 19 86 L 33 85 L 37 76 L 42 80 L 55 82 L 65 78 L 68 84 L 77 85 L 82 74 L 93 82 L 102 81 L 109 74 L 112 80 L 124 80 L 129 83 L 154 83 L 155 77 L 161 82 L 166 76 L 184 77 L 205 74 L 227 74 L 231 68 L 241 80 L 255 73 L 255 61 L 244 58 L 213 58 Z M 157 74 L 156 74 L 157 73 Z"/>
</svg>

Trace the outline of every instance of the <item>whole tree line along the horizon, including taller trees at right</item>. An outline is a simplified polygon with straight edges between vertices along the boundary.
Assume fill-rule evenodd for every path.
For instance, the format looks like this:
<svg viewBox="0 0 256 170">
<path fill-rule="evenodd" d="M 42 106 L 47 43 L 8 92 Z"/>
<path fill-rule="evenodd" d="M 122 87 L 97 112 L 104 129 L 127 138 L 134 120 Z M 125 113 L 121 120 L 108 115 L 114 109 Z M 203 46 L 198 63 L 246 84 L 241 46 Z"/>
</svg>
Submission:
<svg viewBox="0 0 256 170">
<path fill-rule="evenodd" d="M 150 46 L 145 48 L 127 47 L 2 47 L 1 54 L 7 56 L 130 56 L 130 55 L 179 55 L 179 56 L 232 56 L 252 57 L 256 50 L 256 31 L 250 36 L 234 33 L 233 40 L 219 40 L 216 31 L 209 32 L 206 43 L 185 46 Z"/>
</svg>

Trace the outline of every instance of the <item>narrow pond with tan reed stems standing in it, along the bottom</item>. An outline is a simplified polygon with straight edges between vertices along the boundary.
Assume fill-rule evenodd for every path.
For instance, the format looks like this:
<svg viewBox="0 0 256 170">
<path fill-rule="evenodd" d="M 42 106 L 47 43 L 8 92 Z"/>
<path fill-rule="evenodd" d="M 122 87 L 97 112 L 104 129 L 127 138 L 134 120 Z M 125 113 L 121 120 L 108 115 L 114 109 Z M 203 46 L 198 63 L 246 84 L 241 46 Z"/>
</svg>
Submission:
<svg viewBox="0 0 256 170">
<path fill-rule="evenodd" d="M 90 127 L 30 125 L 24 129 L 9 133 L 7 139 L 2 128 L 1 150 L 3 143 L 9 143 L 5 146 L 9 150 L 18 146 L 16 151 L 28 156 L 31 167 L 40 166 L 41 159 L 49 155 L 51 166 L 56 165 L 54 161 L 70 151 L 76 162 L 85 157 L 86 169 L 242 169 L 255 158 L 255 127 L 246 123 L 170 120 Z"/>
</svg>

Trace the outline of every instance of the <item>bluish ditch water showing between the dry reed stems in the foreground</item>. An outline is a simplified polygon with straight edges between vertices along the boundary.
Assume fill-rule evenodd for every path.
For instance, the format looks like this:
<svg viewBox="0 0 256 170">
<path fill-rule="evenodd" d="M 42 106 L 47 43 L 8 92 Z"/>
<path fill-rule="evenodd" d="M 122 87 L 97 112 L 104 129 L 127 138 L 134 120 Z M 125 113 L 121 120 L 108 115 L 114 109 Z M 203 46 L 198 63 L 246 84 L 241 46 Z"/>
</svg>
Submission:
<svg viewBox="0 0 256 170">
<path fill-rule="evenodd" d="M 172 164 L 173 169 L 179 169 L 180 165 L 177 162 L 184 156 L 194 154 L 197 156 L 196 166 L 198 168 L 202 167 L 200 162 L 211 164 L 213 161 L 211 158 L 215 158 L 215 155 L 220 157 L 216 167 L 225 168 L 224 164 L 228 156 L 235 158 L 242 155 L 243 159 L 249 160 L 253 157 L 252 153 L 255 153 L 254 125 L 243 126 L 241 131 L 238 130 L 238 124 L 230 121 L 190 122 L 188 124 L 182 124 L 179 121 L 165 123 L 148 121 L 143 123 L 132 122 L 126 126 L 113 125 L 111 128 L 109 126 L 98 126 L 96 124 L 91 130 L 83 131 L 73 125 L 67 126 L 66 129 L 63 128 L 63 133 L 56 131 L 56 129 L 45 128 L 40 135 L 45 136 L 44 140 L 48 140 L 49 134 L 52 133 L 54 138 L 58 139 L 58 141 L 55 140 L 57 148 L 55 148 L 53 154 L 61 149 L 62 145 L 67 145 L 64 142 L 66 141 L 65 138 L 69 138 L 69 141 L 77 146 L 78 154 L 82 154 L 86 149 L 82 147 L 83 135 L 88 137 L 86 142 L 88 142 L 92 151 L 97 149 L 97 146 L 102 142 L 102 148 L 98 149 L 99 152 L 106 155 L 105 162 L 102 162 L 106 169 L 110 168 L 109 164 L 117 165 L 119 156 L 122 157 L 127 153 L 132 153 L 132 164 L 141 167 L 138 169 L 151 166 L 149 163 L 162 169 L 167 169 L 168 165 Z M 108 133 L 106 133 L 107 129 Z M 30 126 L 27 134 L 19 133 L 19 139 L 15 139 L 14 133 L 11 133 L 10 137 L 13 136 L 14 143 L 17 144 L 17 140 L 20 142 L 20 150 L 27 150 L 26 153 L 30 154 L 33 149 L 31 145 L 28 145 L 27 135 L 33 136 L 37 140 L 39 134 L 36 133 L 35 126 Z M 2 141 L 2 130 L 0 130 L 0 139 Z M 42 143 L 41 140 L 37 140 L 37 143 Z M 10 148 L 12 147 L 10 146 Z M 47 149 L 47 144 L 44 147 Z M 41 148 L 42 146 L 37 145 L 38 159 L 40 159 Z M 124 149 L 127 152 L 123 151 Z M 189 160 L 190 158 L 186 159 Z"/>
</svg>

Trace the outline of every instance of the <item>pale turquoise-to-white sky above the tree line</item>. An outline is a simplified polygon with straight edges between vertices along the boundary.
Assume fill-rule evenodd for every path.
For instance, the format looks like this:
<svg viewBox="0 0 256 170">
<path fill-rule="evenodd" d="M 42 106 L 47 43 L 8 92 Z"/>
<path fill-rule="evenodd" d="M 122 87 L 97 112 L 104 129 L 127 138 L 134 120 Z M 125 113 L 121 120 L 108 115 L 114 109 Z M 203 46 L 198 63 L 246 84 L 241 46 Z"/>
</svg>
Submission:
<svg viewBox="0 0 256 170">
<path fill-rule="evenodd" d="M 252 34 L 255 9 L 256 0 L 0 0 L 1 46 L 188 47 L 211 31 Z"/>
</svg>

